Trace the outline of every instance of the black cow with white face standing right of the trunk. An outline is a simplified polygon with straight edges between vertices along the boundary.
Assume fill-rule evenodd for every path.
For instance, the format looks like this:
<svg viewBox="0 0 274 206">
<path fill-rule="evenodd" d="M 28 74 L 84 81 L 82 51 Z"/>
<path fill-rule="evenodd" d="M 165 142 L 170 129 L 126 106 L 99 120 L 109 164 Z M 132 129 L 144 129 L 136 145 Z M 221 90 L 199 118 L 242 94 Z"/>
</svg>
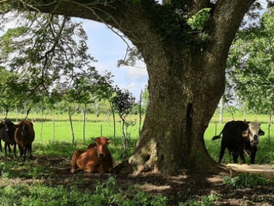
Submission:
<svg viewBox="0 0 274 206">
<path fill-rule="evenodd" d="M 255 163 L 259 137 L 264 135 L 264 131 L 261 130 L 259 123 L 242 121 L 227 122 L 220 135 L 213 137 L 212 140 L 221 138 L 221 134 L 223 134 L 223 139 L 221 142 L 219 163 L 221 163 L 223 159 L 226 148 L 229 152 L 232 152 L 234 163 L 237 163 L 238 155 L 240 155 L 240 162 L 245 163 L 244 152 L 246 152 L 247 155 L 251 154 L 251 164 Z"/>
</svg>

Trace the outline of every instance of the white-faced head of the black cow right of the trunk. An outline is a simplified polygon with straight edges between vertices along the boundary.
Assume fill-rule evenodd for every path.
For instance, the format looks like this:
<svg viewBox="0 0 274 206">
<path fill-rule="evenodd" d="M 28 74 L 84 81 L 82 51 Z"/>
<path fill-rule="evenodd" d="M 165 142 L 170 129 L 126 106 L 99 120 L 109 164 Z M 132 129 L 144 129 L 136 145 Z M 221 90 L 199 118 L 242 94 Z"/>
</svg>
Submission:
<svg viewBox="0 0 274 206">
<path fill-rule="evenodd" d="M 242 133 L 242 137 L 249 137 L 251 146 L 257 146 L 259 143 L 259 137 L 264 135 L 264 131 L 261 130 L 258 122 L 250 122 L 249 128 Z"/>
</svg>

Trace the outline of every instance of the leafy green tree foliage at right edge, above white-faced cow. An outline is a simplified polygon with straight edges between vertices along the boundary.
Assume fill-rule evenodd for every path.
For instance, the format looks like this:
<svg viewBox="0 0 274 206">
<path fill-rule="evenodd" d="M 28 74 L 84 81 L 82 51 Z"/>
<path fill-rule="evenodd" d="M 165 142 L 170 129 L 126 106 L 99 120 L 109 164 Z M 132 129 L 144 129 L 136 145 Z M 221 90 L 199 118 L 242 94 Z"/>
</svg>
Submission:
<svg viewBox="0 0 274 206">
<path fill-rule="evenodd" d="M 257 111 L 274 109 L 274 10 L 266 10 L 260 27 L 238 32 L 228 58 L 229 88 L 240 102 Z"/>
</svg>

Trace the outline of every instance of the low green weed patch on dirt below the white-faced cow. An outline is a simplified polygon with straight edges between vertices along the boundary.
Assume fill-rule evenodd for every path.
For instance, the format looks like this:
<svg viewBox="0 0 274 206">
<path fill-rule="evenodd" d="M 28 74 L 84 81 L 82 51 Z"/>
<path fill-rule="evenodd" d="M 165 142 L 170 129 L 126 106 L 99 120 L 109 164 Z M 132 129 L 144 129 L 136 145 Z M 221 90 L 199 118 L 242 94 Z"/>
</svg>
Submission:
<svg viewBox="0 0 274 206">
<path fill-rule="evenodd" d="M 261 174 L 251 174 L 251 173 L 243 173 L 239 174 L 236 177 L 225 176 L 223 179 L 224 185 L 230 185 L 234 188 L 253 188 L 256 185 L 267 185 L 269 183 L 269 179 L 266 179 Z"/>
</svg>

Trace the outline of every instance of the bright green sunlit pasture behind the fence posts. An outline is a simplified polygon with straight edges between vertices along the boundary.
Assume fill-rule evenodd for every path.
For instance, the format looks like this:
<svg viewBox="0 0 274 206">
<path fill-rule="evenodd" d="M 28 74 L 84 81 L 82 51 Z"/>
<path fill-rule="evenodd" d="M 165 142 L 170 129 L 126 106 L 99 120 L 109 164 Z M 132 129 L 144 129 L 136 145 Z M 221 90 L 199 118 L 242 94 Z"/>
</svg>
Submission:
<svg viewBox="0 0 274 206">
<path fill-rule="evenodd" d="M 86 128 L 85 128 L 85 140 L 84 141 L 84 115 L 73 115 L 73 132 L 75 135 L 75 144 L 72 143 L 71 123 L 69 122 L 68 115 L 55 115 L 55 135 L 53 137 L 53 116 L 43 115 L 45 119 L 41 124 L 41 119 L 36 114 L 29 115 L 29 119 L 34 120 L 34 130 L 36 133 L 36 139 L 34 141 L 33 150 L 34 155 L 50 155 L 58 157 L 71 157 L 73 151 L 78 148 L 86 148 L 88 144 L 92 142 L 90 137 L 98 137 L 101 134 L 105 137 L 112 137 L 112 144 L 110 144 L 110 152 L 114 157 L 114 161 L 119 163 L 126 159 L 130 153 L 134 150 L 136 141 L 139 137 L 139 117 L 138 115 L 129 115 L 127 121 L 133 121 L 136 123 L 135 126 L 129 126 L 127 132 L 130 135 L 129 149 L 123 151 L 122 147 L 122 124 L 119 121 L 119 117 L 116 117 L 116 139 L 114 145 L 114 130 L 113 130 L 113 119 L 112 117 L 96 115 L 87 115 Z M 10 119 L 16 122 L 14 119 L 15 115 L 11 114 Z M 23 119 L 24 115 L 18 115 L 18 121 Z M 144 117 L 142 117 L 142 120 Z M 243 120 L 242 114 L 234 115 L 235 120 Z M 256 156 L 256 163 L 274 163 L 274 127 L 271 127 L 271 145 L 268 146 L 268 121 L 269 117 L 266 115 L 246 115 L 247 121 L 258 121 L 260 122 L 262 130 L 265 135 L 260 137 L 260 144 L 258 146 L 258 153 Z M 231 114 L 223 115 L 223 122 L 232 120 Z M 223 129 L 224 124 L 219 124 L 219 115 L 215 114 L 206 130 L 204 135 L 206 148 L 209 154 L 216 161 L 219 159 L 219 152 L 221 147 L 221 139 L 212 141 L 214 135 L 219 135 Z M 249 163 L 249 158 L 246 158 Z M 233 163 L 232 157 L 225 152 L 222 163 Z"/>
</svg>

